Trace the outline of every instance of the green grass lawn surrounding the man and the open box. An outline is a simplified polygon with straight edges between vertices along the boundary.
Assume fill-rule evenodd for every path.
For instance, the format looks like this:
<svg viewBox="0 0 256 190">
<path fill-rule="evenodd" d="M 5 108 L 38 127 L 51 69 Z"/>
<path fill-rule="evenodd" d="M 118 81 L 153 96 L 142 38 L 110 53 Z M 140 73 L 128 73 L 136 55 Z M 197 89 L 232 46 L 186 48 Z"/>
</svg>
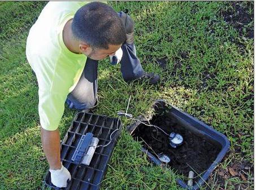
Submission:
<svg viewBox="0 0 256 190">
<path fill-rule="evenodd" d="M 31 28 L 46 2 L 0 2 L 0 189 L 45 189 L 38 86 L 25 56 Z M 231 147 L 203 189 L 253 189 L 254 3 L 110 2 L 135 21 L 137 56 L 159 73 L 157 86 L 125 83 L 120 65 L 99 63 L 96 114 L 150 114 L 156 99 L 223 132 Z M 66 107 L 61 139 L 76 111 Z M 132 121 L 122 118 L 124 126 Z M 125 127 L 124 127 L 125 129 Z M 180 189 L 171 169 L 150 164 L 125 130 L 102 189 Z M 232 171 L 235 171 L 232 172 Z"/>
</svg>

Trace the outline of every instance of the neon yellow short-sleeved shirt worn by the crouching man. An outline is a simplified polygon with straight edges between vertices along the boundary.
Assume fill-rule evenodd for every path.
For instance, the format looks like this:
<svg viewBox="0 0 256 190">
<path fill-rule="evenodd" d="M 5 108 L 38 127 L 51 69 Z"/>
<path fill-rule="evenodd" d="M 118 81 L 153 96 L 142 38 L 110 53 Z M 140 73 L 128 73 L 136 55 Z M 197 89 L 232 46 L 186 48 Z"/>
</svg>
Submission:
<svg viewBox="0 0 256 190">
<path fill-rule="evenodd" d="M 67 95 L 75 88 L 86 56 L 64 45 L 64 25 L 89 2 L 49 2 L 29 30 L 26 54 L 38 81 L 38 112 L 42 128 L 56 130 Z"/>
</svg>

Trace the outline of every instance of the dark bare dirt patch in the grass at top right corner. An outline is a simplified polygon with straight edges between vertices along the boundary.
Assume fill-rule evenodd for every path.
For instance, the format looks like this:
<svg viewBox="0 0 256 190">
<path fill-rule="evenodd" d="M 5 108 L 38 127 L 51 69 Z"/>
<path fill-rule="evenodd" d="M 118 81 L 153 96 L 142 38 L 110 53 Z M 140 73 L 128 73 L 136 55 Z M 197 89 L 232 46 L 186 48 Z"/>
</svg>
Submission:
<svg viewBox="0 0 256 190">
<path fill-rule="evenodd" d="M 254 18 L 254 2 L 227 2 L 230 7 L 220 14 L 226 23 L 229 23 L 235 28 L 240 36 L 254 38 L 253 25 L 248 26 Z"/>
</svg>

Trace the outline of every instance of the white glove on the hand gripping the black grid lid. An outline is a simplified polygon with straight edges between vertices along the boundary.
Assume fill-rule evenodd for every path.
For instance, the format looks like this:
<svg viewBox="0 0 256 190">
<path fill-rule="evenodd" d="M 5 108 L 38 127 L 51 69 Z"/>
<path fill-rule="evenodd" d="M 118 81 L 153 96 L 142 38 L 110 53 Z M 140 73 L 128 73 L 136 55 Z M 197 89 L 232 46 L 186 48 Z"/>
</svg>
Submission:
<svg viewBox="0 0 256 190">
<path fill-rule="evenodd" d="M 71 180 L 70 172 L 62 165 L 60 170 L 49 170 L 51 173 L 51 183 L 56 187 L 67 187 L 67 180 Z"/>
</svg>

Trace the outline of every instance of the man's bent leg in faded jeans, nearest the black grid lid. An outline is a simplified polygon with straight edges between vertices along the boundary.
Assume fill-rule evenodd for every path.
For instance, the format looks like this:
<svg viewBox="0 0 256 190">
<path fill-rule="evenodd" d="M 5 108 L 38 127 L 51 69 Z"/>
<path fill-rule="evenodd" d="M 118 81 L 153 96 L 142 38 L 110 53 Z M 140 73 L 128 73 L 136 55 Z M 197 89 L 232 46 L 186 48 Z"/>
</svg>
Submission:
<svg viewBox="0 0 256 190">
<path fill-rule="evenodd" d="M 98 61 L 87 58 L 84 71 L 75 89 L 68 94 L 66 103 L 69 108 L 79 110 L 94 107 L 98 89 Z"/>
</svg>

